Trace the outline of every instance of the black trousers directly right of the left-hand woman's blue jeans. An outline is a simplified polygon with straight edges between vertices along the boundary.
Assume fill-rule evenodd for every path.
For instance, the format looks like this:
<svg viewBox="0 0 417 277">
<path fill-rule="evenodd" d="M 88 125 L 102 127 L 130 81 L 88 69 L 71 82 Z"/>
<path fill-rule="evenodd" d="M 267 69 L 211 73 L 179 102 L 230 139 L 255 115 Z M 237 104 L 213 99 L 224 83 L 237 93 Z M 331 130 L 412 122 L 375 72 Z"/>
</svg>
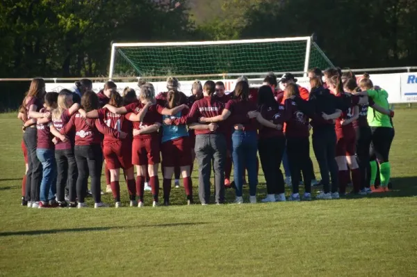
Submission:
<svg viewBox="0 0 417 277">
<path fill-rule="evenodd" d="M 70 202 L 75 202 L 78 168 L 76 167 L 74 149 L 55 150 L 55 160 L 58 171 L 56 198 L 58 201 L 65 200 L 65 187 L 67 186 Z"/>
</svg>

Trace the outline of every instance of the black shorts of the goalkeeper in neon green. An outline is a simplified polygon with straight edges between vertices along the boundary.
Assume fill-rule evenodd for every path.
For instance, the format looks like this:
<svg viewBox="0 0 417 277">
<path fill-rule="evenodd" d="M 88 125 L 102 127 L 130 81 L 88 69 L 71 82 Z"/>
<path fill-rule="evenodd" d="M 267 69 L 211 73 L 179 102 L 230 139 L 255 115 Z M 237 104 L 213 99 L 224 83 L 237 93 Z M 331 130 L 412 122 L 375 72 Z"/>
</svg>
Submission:
<svg viewBox="0 0 417 277">
<path fill-rule="evenodd" d="M 372 143 L 370 144 L 370 160 L 378 159 L 379 164 L 389 161 L 389 150 L 394 139 L 394 129 L 390 127 L 370 127 Z"/>
</svg>

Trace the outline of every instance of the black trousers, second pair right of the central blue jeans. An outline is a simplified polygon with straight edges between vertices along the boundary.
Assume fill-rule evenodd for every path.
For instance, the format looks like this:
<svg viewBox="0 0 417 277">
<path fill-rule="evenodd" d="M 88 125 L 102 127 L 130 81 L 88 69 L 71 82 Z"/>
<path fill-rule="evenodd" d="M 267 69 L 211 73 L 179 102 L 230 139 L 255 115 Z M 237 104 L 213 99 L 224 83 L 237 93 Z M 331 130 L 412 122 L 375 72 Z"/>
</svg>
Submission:
<svg viewBox="0 0 417 277">
<path fill-rule="evenodd" d="M 310 141 L 309 137 L 288 138 L 287 137 L 287 155 L 290 163 L 291 184 L 293 193 L 298 193 L 300 186 L 300 174 L 304 180 L 305 192 L 311 193 L 311 159 L 310 159 Z"/>
</svg>

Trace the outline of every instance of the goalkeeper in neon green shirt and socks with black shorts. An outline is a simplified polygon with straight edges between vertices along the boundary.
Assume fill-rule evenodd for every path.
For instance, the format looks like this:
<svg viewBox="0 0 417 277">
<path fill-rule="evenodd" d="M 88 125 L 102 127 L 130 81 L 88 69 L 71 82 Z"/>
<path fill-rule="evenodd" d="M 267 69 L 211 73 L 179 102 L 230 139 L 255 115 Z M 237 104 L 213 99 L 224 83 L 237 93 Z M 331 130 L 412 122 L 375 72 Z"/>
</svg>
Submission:
<svg viewBox="0 0 417 277">
<path fill-rule="evenodd" d="M 368 95 L 378 106 L 389 109 L 388 93 L 386 90 L 373 89 L 373 82 L 368 74 L 363 74 L 359 81 L 361 92 L 359 95 Z M 393 113 L 391 112 L 391 116 Z M 388 184 L 391 178 L 391 164 L 389 163 L 389 150 L 394 139 L 394 129 L 390 116 L 373 109 L 368 112 L 368 124 L 372 132 L 372 144 L 370 148 L 370 184 L 373 185 L 377 174 L 377 160 L 379 162 L 379 176 L 381 186 L 374 192 L 389 191 Z"/>
</svg>

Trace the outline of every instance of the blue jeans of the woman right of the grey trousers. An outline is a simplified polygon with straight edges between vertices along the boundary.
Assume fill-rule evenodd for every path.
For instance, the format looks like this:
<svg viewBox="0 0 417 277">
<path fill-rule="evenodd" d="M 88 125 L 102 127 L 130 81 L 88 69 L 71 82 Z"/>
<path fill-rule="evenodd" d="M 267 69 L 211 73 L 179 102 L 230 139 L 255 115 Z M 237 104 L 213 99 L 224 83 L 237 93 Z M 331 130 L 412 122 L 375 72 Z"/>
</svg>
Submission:
<svg viewBox="0 0 417 277">
<path fill-rule="evenodd" d="M 256 152 L 258 151 L 257 134 L 255 131 L 235 130 L 231 135 L 232 159 L 234 164 L 234 182 L 236 196 L 242 196 L 243 171 L 247 168 L 250 196 L 256 195 L 258 175 L 256 174 Z"/>
</svg>

